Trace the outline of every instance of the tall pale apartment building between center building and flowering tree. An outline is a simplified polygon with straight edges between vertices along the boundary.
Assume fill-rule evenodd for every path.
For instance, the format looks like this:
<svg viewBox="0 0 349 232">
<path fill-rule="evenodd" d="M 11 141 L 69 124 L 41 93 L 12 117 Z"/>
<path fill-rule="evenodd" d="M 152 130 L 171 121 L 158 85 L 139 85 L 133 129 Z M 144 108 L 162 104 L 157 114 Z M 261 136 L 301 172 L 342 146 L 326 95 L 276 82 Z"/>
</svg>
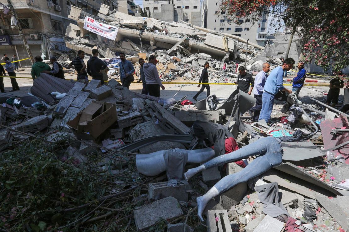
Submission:
<svg viewBox="0 0 349 232">
<path fill-rule="evenodd" d="M 229 20 L 225 11 L 220 11 L 221 1 L 207 0 L 206 28 L 217 32 L 237 35 L 250 42 L 264 46 L 267 41 L 269 17 L 267 11 L 262 14 L 259 22 L 252 24 L 248 18 L 239 18 L 239 24 Z"/>
</svg>

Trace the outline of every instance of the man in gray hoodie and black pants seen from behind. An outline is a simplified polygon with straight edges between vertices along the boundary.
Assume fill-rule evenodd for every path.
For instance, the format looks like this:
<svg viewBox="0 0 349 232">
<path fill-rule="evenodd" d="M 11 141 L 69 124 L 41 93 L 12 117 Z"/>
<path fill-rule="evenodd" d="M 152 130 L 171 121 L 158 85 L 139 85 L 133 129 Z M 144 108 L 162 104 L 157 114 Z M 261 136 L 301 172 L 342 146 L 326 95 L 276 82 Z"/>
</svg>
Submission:
<svg viewBox="0 0 349 232">
<path fill-rule="evenodd" d="M 143 65 L 144 76 L 146 78 L 148 94 L 154 97 L 160 97 L 160 87 L 165 89 L 159 78 L 159 73 L 156 69 L 157 60 L 154 55 L 150 55 L 148 63 Z"/>
</svg>

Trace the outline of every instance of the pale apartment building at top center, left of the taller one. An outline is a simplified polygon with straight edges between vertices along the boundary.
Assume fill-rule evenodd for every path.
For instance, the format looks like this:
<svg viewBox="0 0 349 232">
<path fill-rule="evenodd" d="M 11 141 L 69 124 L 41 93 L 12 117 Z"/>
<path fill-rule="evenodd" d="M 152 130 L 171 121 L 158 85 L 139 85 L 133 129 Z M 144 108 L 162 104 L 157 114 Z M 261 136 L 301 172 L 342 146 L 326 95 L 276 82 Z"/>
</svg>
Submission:
<svg viewBox="0 0 349 232">
<path fill-rule="evenodd" d="M 165 22 L 184 21 L 195 26 L 202 26 L 200 0 L 143 0 L 143 9 L 150 17 Z"/>
</svg>

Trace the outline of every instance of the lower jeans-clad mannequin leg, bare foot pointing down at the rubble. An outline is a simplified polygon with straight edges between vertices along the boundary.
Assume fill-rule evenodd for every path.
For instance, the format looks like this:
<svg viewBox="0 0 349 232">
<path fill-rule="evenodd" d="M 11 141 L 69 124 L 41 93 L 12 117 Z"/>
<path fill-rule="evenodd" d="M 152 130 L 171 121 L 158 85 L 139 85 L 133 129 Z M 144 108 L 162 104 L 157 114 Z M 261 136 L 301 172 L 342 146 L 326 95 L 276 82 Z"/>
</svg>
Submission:
<svg viewBox="0 0 349 232">
<path fill-rule="evenodd" d="M 231 189 L 235 185 L 247 182 L 249 179 L 265 173 L 270 168 L 281 164 L 281 162 L 282 151 L 268 153 L 257 157 L 238 173 L 223 177 L 207 193 L 196 198 L 196 202 L 198 203 L 198 216 L 201 221 L 203 221 L 202 212 L 212 198 Z"/>
</svg>

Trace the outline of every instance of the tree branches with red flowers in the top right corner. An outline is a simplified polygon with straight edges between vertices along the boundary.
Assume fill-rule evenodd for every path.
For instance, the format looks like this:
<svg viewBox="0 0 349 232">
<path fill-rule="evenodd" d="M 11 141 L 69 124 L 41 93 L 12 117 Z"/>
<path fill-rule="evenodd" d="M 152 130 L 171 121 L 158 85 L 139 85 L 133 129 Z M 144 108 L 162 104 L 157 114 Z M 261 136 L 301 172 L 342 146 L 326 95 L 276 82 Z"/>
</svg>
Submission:
<svg viewBox="0 0 349 232">
<path fill-rule="evenodd" d="M 325 71 L 349 65 L 348 0 L 222 0 L 220 9 L 236 23 L 240 18 L 259 23 L 268 13 L 276 18 L 272 26 L 300 36 L 306 63 L 315 61 Z"/>
</svg>

